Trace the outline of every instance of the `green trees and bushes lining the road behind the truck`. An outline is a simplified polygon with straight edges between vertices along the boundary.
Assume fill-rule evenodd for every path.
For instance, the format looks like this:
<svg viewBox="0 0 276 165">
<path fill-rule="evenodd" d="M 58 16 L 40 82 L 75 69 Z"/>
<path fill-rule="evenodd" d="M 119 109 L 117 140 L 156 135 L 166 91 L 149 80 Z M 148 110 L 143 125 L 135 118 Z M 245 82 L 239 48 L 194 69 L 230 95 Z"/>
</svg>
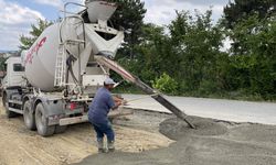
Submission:
<svg viewBox="0 0 276 165">
<path fill-rule="evenodd" d="M 276 100 L 276 7 L 269 0 L 235 0 L 214 22 L 212 10 L 176 11 L 166 26 L 145 23 L 140 0 L 112 0 L 115 28 L 126 30 L 118 61 L 167 95 L 243 100 Z M 32 25 L 39 36 L 51 22 Z M 21 36 L 21 50 L 35 37 Z M 231 43 L 229 50 L 224 43 Z M 115 76 L 116 80 L 120 80 Z M 124 82 L 120 92 L 139 92 Z"/>
</svg>

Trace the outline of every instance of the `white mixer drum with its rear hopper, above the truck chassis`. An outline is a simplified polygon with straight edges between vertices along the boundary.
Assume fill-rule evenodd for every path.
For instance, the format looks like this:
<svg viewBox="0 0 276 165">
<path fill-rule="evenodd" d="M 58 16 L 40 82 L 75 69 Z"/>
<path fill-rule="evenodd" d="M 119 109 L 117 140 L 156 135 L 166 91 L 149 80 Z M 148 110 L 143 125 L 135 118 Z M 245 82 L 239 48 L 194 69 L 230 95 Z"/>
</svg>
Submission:
<svg viewBox="0 0 276 165">
<path fill-rule="evenodd" d="M 114 3 L 93 1 L 87 3 L 87 13 L 92 20 L 89 23 L 84 23 L 81 15 L 74 15 L 45 29 L 32 47 L 22 54 L 28 81 L 42 91 L 56 90 L 54 81 L 57 56 L 59 50 L 63 46 L 66 51 L 64 54 L 67 54 L 65 56 L 70 54 L 76 58 L 72 66 L 76 79 L 82 81 L 84 78 L 85 87 L 102 85 L 106 77 L 104 70 L 98 69 L 96 65 L 87 67 L 87 64 L 95 64 L 93 56 L 97 54 L 115 57 L 118 46 L 124 41 L 124 32 L 107 26 L 107 20 L 115 10 Z M 99 33 L 114 37 L 106 40 Z M 74 84 L 72 75 L 68 76 L 66 84 Z"/>
</svg>

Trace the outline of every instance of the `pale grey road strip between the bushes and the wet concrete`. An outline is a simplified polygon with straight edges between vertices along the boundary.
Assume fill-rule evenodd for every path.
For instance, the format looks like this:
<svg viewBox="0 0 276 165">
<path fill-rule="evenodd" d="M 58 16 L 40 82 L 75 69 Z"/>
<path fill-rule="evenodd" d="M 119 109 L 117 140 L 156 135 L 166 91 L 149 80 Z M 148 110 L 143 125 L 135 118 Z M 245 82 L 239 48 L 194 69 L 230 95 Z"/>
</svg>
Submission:
<svg viewBox="0 0 276 165">
<path fill-rule="evenodd" d="M 130 101 L 127 106 L 129 108 L 170 112 L 152 98 L 145 98 L 147 97 L 145 95 L 123 95 L 123 97 L 126 100 L 144 98 Z M 189 116 L 234 122 L 276 124 L 276 103 L 188 97 L 166 98 Z"/>
</svg>

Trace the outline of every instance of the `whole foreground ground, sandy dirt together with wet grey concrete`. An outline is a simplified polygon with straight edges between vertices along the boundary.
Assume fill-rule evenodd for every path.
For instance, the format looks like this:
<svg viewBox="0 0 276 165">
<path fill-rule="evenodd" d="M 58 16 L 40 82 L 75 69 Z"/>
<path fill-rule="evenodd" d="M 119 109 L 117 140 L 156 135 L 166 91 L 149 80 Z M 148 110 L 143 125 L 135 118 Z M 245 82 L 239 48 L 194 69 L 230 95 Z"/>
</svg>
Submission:
<svg viewBox="0 0 276 165">
<path fill-rule="evenodd" d="M 0 165 L 275 165 L 276 125 L 189 117 L 191 130 L 170 114 L 135 110 L 114 120 L 115 153 L 97 154 L 88 123 L 41 138 L 23 118 L 0 108 Z"/>
</svg>

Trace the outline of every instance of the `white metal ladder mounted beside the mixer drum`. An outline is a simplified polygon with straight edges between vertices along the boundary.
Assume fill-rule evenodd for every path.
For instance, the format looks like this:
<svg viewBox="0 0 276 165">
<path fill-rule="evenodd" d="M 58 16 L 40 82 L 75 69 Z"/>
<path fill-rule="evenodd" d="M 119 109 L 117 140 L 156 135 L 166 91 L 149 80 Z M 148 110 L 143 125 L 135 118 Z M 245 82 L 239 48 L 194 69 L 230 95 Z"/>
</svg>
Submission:
<svg viewBox="0 0 276 165">
<path fill-rule="evenodd" d="M 65 45 L 60 44 L 55 62 L 55 78 L 54 78 L 55 87 L 63 87 L 65 85 L 65 75 L 66 75 L 65 61 L 66 61 Z"/>
</svg>

